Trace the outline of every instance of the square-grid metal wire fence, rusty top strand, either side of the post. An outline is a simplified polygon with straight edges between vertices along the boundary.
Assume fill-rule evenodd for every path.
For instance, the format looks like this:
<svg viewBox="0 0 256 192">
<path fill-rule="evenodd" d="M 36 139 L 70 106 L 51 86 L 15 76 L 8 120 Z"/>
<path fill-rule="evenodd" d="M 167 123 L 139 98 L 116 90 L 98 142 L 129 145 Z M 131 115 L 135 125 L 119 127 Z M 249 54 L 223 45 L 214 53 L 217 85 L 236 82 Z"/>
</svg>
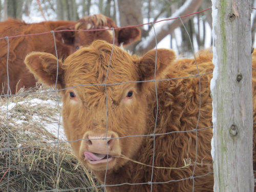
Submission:
<svg viewBox="0 0 256 192">
<path fill-rule="evenodd" d="M 255 9 L 255 8 L 251 8 L 251 9 Z M 83 32 L 92 32 L 92 31 L 104 31 L 104 30 L 112 30 L 113 31 L 113 34 L 115 35 L 115 29 L 123 29 L 123 28 L 130 28 L 130 27 L 140 27 L 140 26 L 144 26 L 144 25 L 152 25 L 153 26 L 153 29 L 155 31 L 155 27 L 154 27 L 154 24 L 156 23 L 159 23 L 159 22 L 164 22 L 164 21 L 167 21 L 167 20 L 172 20 L 172 19 L 180 19 L 183 27 L 185 28 L 183 22 L 182 22 L 182 19 L 183 17 L 186 17 L 186 16 L 190 16 L 190 15 L 195 15 L 195 14 L 199 14 L 199 13 L 202 13 L 202 12 L 205 12 L 205 11 L 209 11 L 210 8 L 208 9 L 205 9 L 205 10 L 202 10 L 202 11 L 198 11 L 198 12 L 195 12 L 195 13 L 191 13 L 191 14 L 187 14 L 187 15 L 183 15 L 183 16 L 179 16 L 179 17 L 175 17 L 175 18 L 169 18 L 169 19 L 162 19 L 162 20 L 159 20 L 157 22 L 151 22 L 151 23 L 145 23 L 145 24 L 140 24 L 140 25 L 134 25 L 134 26 L 125 26 L 125 27 L 118 27 L 118 28 L 111 28 L 111 29 L 94 29 L 94 30 L 59 30 L 59 31 L 49 31 L 49 32 L 44 32 L 44 33 L 36 33 L 36 34 L 26 34 L 26 35 L 15 35 L 15 36 L 9 36 L 9 37 L 1 37 L 0 39 L 4 39 L 4 40 L 7 40 L 8 41 L 8 54 L 7 54 L 7 70 L 8 70 L 8 58 L 9 58 L 9 39 L 10 38 L 17 38 L 17 37 L 25 37 L 25 36 L 35 36 L 35 35 L 44 35 L 44 34 L 49 34 L 49 33 L 52 33 L 53 34 L 53 37 L 54 37 L 54 45 L 55 45 L 55 51 L 56 51 L 56 55 L 57 55 L 57 48 L 56 48 L 56 41 L 55 41 L 55 33 L 56 32 L 62 32 L 62 31 L 83 31 Z M 186 30 L 186 28 L 185 28 Z M 186 30 L 187 31 L 187 30 Z M 26 96 L 26 95 L 37 95 L 37 94 L 46 94 L 46 93 L 55 93 L 57 94 L 57 92 L 59 91 L 63 91 L 63 90 L 67 90 L 67 89 L 71 89 L 71 88 L 76 88 L 78 86 L 104 86 L 105 87 L 105 91 L 106 91 L 106 87 L 107 86 L 113 86 L 113 85 L 118 85 L 118 84 L 124 84 L 124 83 L 129 83 L 129 82 L 135 82 L 135 83 L 140 83 L 140 82 L 155 82 L 155 91 L 156 91 L 156 97 L 157 97 L 157 87 L 156 87 L 156 83 L 158 81 L 168 81 L 168 80 L 174 80 L 174 79 L 184 79 L 184 78 L 199 78 L 199 92 L 200 92 L 200 101 L 199 101 L 199 114 L 198 114 L 198 120 L 197 120 L 197 125 L 195 127 L 195 129 L 193 130 L 187 130 L 187 131 L 173 131 L 173 132 L 168 132 L 168 133 L 161 133 L 161 134 L 156 134 L 155 131 L 156 131 L 156 126 L 157 126 L 157 117 L 158 117 L 158 114 L 156 115 L 156 122 L 155 122 L 155 127 L 154 127 L 154 133 L 152 134 L 147 134 L 147 135 L 127 135 L 127 136 L 123 136 L 123 137 L 114 137 L 114 138 L 108 138 L 107 137 L 107 132 L 108 132 L 108 127 L 107 127 L 107 124 L 106 123 L 106 136 L 104 138 L 101 138 L 102 140 L 106 140 L 106 145 L 108 146 L 108 139 L 122 139 L 122 138 L 128 138 L 128 137 L 153 137 L 154 138 L 154 150 L 153 150 L 153 164 L 152 164 L 152 176 L 151 176 L 151 181 L 148 181 L 148 182 L 144 182 L 144 183 L 117 183 L 117 184 L 113 184 L 113 185 L 107 185 L 106 184 L 106 174 L 107 174 L 107 169 L 108 169 L 108 161 L 107 161 L 107 164 L 106 164 L 106 170 L 105 170 L 105 177 L 104 177 L 104 184 L 102 185 L 98 185 L 98 186 L 93 186 L 93 187 L 75 187 L 75 188 L 71 188 L 71 189 L 58 189 L 58 182 L 57 182 L 57 179 L 56 179 L 56 186 L 55 186 L 55 189 L 53 190 L 40 190 L 40 192 L 44 192 L 44 191 L 70 191 L 70 190 L 77 190 L 77 189 L 93 189 L 93 188 L 104 188 L 104 191 L 106 190 L 106 187 L 109 187 L 109 186 L 121 186 L 121 185 L 144 185 L 144 184 L 147 184 L 147 185 L 151 185 L 151 191 L 152 191 L 152 185 L 153 184 L 165 184 L 165 183 L 170 183 L 170 182 L 179 182 L 179 181 L 182 181 L 182 180 L 188 180 L 188 179 L 193 179 L 193 192 L 194 192 L 194 183 L 195 183 L 195 178 L 200 178 L 200 177 L 205 177 L 207 175 L 210 175 L 210 174 L 213 174 L 213 172 L 209 172 L 205 175 L 202 175 L 202 176 L 195 176 L 195 169 L 196 169 L 196 164 L 197 164 L 197 152 L 198 152 L 198 148 L 197 148 L 197 142 L 198 142 L 198 132 L 199 131 L 202 131 L 202 130 L 206 130 L 206 129 L 212 129 L 212 126 L 209 126 L 209 127 L 204 127 L 202 129 L 198 129 L 198 124 L 199 124 L 199 120 L 200 120 L 200 111 L 201 111 L 201 82 L 200 82 L 200 77 L 203 76 L 203 75 L 207 75 L 207 74 L 210 74 L 212 73 L 211 72 L 208 72 L 208 73 L 203 73 L 203 74 L 200 74 L 199 73 L 199 69 L 198 69 L 198 65 L 197 65 L 197 61 L 196 61 L 196 57 L 195 57 L 195 52 L 194 52 L 194 49 L 193 49 L 193 43 L 191 42 L 191 38 L 189 36 L 189 34 L 187 33 L 188 37 L 189 37 L 189 40 L 190 40 L 190 45 L 191 45 L 191 49 L 193 50 L 193 54 L 194 54 L 194 58 L 195 58 L 195 62 L 196 62 L 196 66 L 197 66 L 197 74 L 195 75 L 191 75 L 191 76 L 187 76 L 187 77 L 176 77 L 176 78 L 169 78 L 169 79 L 156 79 L 156 63 L 155 63 L 155 74 L 154 74 L 154 79 L 151 79 L 151 80 L 145 80 L 145 81 L 126 81 L 126 82 L 121 82 L 121 83 L 106 83 L 106 78 L 108 76 L 108 72 L 105 76 L 105 82 L 104 83 L 99 83 L 99 84 L 78 84 L 77 86 L 74 86 L 74 87 L 70 87 L 70 88 L 65 88 L 65 89 L 60 89 L 60 90 L 57 90 L 56 89 L 56 85 L 57 85 L 57 77 L 58 77 L 58 74 L 56 75 L 56 83 L 55 83 L 55 89 L 52 90 L 52 91 L 43 91 L 43 92 L 40 92 L 40 93 L 36 93 L 36 92 L 31 92 L 31 93 L 27 93 L 27 94 L 9 94 L 9 86 L 8 86 L 8 92 L 7 94 L 3 95 L 4 97 L 7 97 L 7 106 L 6 106 L 6 117 L 7 117 L 7 130 L 8 130 L 8 146 L 6 148 L 0 148 L 0 152 L 4 152 L 4 151 L 9 151 L 9 167 L 8 169 L 6 170 L 6 173 L 4 174 L 4 176 L 7 174 L 8 172 L 8 184 L 7 184 L 7 191 L 9 189 L 9 178 L 10 178 L 10 172 L 11 172 L 11 150 L 20 150 L 20 149 L 24 149 L 24 148 L 30 148 L 30 147 L 39 147 L 39 146 L 47 146 L 47 145 L 52 145 L 52 144 L 57 144 L 57 148 L 58 148 L 58 160 L 57 160 L 57 173 L 56 173 L 56 178 L 58 178 L 58 175 L 59 175 L 59 144 L 60 143 L 71 143 L 71 142 L 77 142 L 77 141 L 81 141 L 81 140 L 89 140 L 89 139 L 78 139 L 78 140 L 72 140 L 72 141 L 60 141 L 59 140 L 59 125 L 60 125 L 60 116 L 61 116 L 61 113 L 60 113 L 60 104 L 59 104 L 59 101 L 58 102 L 58 111 L 59 111 L 59 122 L 58 122 L 58 133 L 57 133 L 57 141 L 55 142 L 49 142 L 49 143 L 44 143 L 44 144 L 36 144 L 36 145 L 29 145 L 29 146 L 20 146 L 20 147 L 10 147 L 10 138 L 9 138 L 9 122 L 8 122 L 8 105 L 9 105 L 9 98 L 11 96 Z M 156 33 L 155 33 L 155 38 L 156 38 Z M 114 40 L 115 38 L 113 38 L 113 49 L 114 49 Z M 112 54 L 113 54 L 113 49 L 112 49 L 112 53 L 111 53 L 111 57 L 110 57 L 110 61 L 109 61 L 109 66 L 108 66 L 108 70 L 110 68 L 110 63 L 111 63 L 111 59 L 112 59 Z M 157 39 L 156 39 L 156 61 L 157 62 Z M 58 67 L 58 59 L 57 59 L 57 67 Z M 254 69 L 254 68 L 252 68 Z M 255 69 L 254 69 L 255 70 Z M 57 70 L 57 73 L 58 73 L 58 70 Z M 8 76 L 8 85 L 9 85 L 9 73 L 7 73 L 7 76 Z M 106 97 L 108 97 L 108 94 L 106 94 Z M 107 101 L 108 99 L 106 99 Z M 158 99 L 157 99 L 157 102 L 158 102 Z M 157 103 L 157 109 L 158 109 L 158 103 Z M 158 113 L 158 110 L 157 110 L 157 113 Z M 106 102 L 106 122 L 108 122 L 108 102 Z M 255 124 L 255 122 L 253 122 Z M 167 134 L 174 134 L 174 133 L 188 133 L 188 132 L 195 132 L 196 133 L 196 160 L 195 160 L 195 164 L 194 164 L 194 169 L 193 169 L 193 174 L 188 177 L 188 178 L 183 178 L 183 179 L 180 179 L 180 180 L 171 180 L 171 181 L 166 181 L 166 182 L 153 182 L 153 175 L 154 175 L 154 158 L 155 158 L 155 137 L 157 136 L 161 136 L 161 135 L 167 135 Z M 99 139 L 90 139 L 90 140 L 99 140 Z M 39 141 L 38 141 L 39 142 Z M 107 147 L 108 149 L 108 147 Z M 109 154 L 107 152 L 107 158 L 109 158 Z M 255 171 L 253 171 L 255 173 Z M 4 177 L 3 176 L 3 177 Z M 1 178 L 1 180 L 3 179 L 3 177 Z M 1 182 L 0 180 L 0 182 Z"/>
</svg>

